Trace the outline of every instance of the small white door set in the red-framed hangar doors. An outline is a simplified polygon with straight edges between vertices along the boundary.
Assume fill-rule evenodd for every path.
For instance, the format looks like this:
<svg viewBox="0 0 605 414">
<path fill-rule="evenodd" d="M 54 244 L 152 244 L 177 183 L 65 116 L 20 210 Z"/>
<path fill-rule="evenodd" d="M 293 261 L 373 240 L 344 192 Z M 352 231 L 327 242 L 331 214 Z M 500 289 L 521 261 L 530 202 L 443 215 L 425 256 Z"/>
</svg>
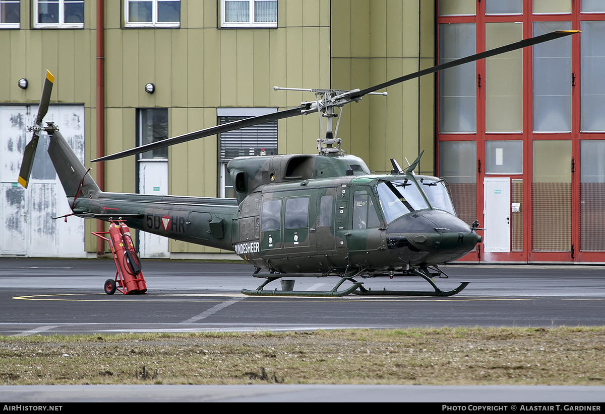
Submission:
<svg viewBox="0 0 605 414">
<path fill-rule="evenodd" d="M 486 253 L 511 251 L 511 179 L 483 179 L 483 247 Z"/>
</svg>

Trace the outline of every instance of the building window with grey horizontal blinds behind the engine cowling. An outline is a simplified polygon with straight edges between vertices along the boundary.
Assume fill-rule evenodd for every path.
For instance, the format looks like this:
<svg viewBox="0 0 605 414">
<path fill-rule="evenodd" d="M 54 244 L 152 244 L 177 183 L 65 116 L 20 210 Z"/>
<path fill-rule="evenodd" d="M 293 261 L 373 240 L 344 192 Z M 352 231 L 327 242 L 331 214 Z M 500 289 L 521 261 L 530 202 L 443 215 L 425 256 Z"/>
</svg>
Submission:
<svg viewBox="0 0 605 414">
<path fill-rule="evenodd" d="M 218 108 L 218 124 L 226 124 L 250 116 L 266 115 L 276 112 L 275 108 Z M 227 173 L 227 164 L 236 157 L 277 154 L 277 121 L 255 125 L 234 131 L 223 132 L 218 136 L 218 176 L 219 195 L 223 198 L 235 198 L 231 177 Z"/>
</svg>

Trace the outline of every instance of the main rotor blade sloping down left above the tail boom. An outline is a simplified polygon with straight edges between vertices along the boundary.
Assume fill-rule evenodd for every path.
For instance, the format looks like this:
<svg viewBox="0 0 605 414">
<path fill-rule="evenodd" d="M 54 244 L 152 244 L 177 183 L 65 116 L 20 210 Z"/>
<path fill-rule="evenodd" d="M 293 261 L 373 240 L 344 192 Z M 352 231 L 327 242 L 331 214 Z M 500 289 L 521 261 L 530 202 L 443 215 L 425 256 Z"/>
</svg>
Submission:
<svg viewBox="0 0 605 414">
<path fill-rule="evenodd" d="M 209 127 L 195 132 L 189 132 L 185 135 L 175 136 L 173 138 L 163 139 L 162 141 L 152 142 L 151 144 L 141 145 L 140 147 L 132 148 L 130 150 L 121 151 L 119 153 L 106 155 L 101 158 L 93 159 L 91 162 L 97 161 L 109 161 L 111 159 L 124 158 L 129 155 L 140 154 L 146 151 L 157 150 L 159 148 L 169 147 L 170 145 L 180 144 L 181 142 L 188 142 L 198 138 L 204 138 L 204 136 L 217 135 L 223 132 L 232 131 L 235 129 L 251 127 L 258 124 L 264 124 L 276 119 L 289 118 L 290 116 L 301 115 L 301 113 L 312 113 L 316 112 L 311 107 L 311 104 L 304 103 L 300 104 L 295 108 L 284 109 L 278 112 L 267 113 L 266 115 L 252 116 L 251 118 L 240 119 L 239 121 L 233 121 L 227 124 L 221 124 L 214 127 Z"/>
</svg>

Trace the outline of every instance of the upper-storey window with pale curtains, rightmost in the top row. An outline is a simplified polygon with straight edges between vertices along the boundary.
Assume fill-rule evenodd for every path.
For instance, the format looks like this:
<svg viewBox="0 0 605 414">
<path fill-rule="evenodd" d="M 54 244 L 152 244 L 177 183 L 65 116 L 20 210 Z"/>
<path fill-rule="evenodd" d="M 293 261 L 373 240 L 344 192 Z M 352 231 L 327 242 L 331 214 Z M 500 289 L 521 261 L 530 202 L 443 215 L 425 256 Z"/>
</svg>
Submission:
<svg viewBox="0 0 605 414">
<path fill-rule="evenodd" d="M 221 27 L 277 27 L 277 0 L 221 0 Z"/>
</svg>

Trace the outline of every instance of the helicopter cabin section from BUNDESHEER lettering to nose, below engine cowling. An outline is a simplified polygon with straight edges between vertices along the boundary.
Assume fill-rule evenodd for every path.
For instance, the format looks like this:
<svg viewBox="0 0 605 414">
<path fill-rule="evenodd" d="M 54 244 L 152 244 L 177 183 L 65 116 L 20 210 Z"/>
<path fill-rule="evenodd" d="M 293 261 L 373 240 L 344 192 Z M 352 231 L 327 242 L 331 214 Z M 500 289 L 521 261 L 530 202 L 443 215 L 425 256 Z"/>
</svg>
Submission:
<svg viewBox="0 0 605 414">
<path fill-rule="evenodd" d="M 381 275 L 455 260 L 480 241 L 439 179 L 412 174 L 268 183 L 242 200 L 233 230 L 241 258 L 278 273 Z"/>
</svg>

